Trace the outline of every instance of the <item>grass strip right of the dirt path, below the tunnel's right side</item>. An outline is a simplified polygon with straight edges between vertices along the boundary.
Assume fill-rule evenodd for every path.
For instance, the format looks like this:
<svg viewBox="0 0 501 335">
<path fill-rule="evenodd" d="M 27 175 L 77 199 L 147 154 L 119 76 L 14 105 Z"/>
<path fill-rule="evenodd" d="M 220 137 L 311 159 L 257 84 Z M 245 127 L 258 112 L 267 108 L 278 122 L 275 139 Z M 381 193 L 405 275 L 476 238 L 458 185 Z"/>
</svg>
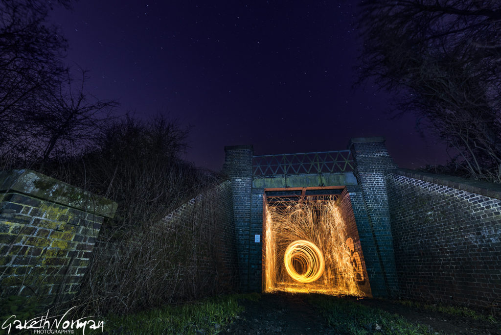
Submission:
<svg viewBox="0 0 501 335">
<path fill-rule="evenodd" d="M 322 316 L 338 333 L 370 334 L 379 325 L 386 334 L 429 334 L 423 325 L 413 324 L 398 314 L 391 314 L 379 308 L 371 308 L 342 297 L 310 294 L 309 303 L 320 307 Z"/>
</svg>

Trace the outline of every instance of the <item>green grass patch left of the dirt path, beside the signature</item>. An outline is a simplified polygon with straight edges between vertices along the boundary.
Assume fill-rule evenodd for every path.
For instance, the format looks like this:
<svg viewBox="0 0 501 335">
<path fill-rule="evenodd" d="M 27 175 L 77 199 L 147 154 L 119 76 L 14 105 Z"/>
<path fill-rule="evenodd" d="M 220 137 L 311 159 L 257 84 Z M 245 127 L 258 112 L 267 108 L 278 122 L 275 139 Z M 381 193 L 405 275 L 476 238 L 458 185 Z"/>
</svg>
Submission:
<svg viewBox="0 0 501 335">
<path fill-rule="evenodd" d="M 104 330 L 111 333 L 132 334 L 194 334 L 204 330 L 216 334 L 243 311 L 239 299 L 256 301 L 257 293 L 231 294 L 208 298 L 198 302 L 141 311 L 124 316 L 109 316 Z"/>
</svg>

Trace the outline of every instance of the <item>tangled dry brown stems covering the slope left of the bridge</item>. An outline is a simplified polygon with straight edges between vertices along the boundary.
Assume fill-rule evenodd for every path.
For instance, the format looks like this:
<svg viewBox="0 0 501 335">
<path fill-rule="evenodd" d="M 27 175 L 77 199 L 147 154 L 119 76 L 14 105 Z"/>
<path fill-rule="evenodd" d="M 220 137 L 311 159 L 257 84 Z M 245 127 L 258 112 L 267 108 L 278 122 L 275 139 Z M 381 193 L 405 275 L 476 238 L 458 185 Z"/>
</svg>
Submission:
<svg viewBox="0 0 501 335">
<path fill-rule="evenodd" d="M 222 186 L 221 186 L 222 187 Z M 216 191 L 215 188 L 213 191 Z M 217 192 L 183 205 L 174 219 L 144 222 L 99 241 L 79 303 L 99 314 L 131 312 L 221 292 L 218 237 L 228 218 Z M 234 242 L 234 241 L 233 241 Z"/>
</svg>

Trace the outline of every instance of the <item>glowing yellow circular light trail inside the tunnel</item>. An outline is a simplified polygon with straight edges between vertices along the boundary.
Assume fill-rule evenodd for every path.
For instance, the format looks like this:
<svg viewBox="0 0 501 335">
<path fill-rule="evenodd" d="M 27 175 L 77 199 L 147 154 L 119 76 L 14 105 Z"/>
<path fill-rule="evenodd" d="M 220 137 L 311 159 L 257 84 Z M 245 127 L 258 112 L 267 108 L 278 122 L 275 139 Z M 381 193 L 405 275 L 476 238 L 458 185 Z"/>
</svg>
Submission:
<svg viewBox="0 0 501 335">
<path fill-rule="evenodd" d="M 324 273 L 324 255 L 319 247 L 309 241 L 298 240 L 289 244 L 284 262 L 292 279 L 300 283 L 311 283 Z M 301 273 L 298 273 L 298 268 Z"/>
</svg>

